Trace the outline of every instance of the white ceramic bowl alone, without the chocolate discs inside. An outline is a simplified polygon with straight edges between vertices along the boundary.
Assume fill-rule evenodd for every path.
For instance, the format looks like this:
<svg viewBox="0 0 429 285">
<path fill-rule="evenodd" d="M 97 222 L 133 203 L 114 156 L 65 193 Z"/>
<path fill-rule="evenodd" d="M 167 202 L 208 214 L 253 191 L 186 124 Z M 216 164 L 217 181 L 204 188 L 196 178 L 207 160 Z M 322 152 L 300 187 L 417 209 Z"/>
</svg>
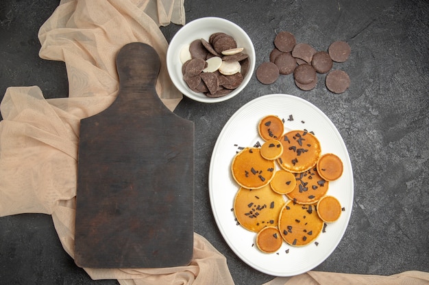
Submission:
<svg viewBox="0 0 429 285">
<path fill-rule="evenodd" d="M 210 98 L 203 93 L 193 92 L 183 80 L 180 50 L 183 46 L 191 44 L 193 40 L 204 38 L 204 40 L 208 41 L 209 36 L 217 32 L 228 33 L 236 40 L 238 47 L 244 48 L 243 53 L 249 55 L 249 69 L 243 79 L 243 83 L 230 92 L 230 94 L 219 98 Z M 255 57 L 255 49 L 252 40 L 250 40 L 247 33 L 243 31 L 241 27 L 223 18 L 198 18 L 184 25 L 177 31 L 173 39 L 171 39 L 169 49 L 167 50 L 167 70 L 169 71 L 171 81 L 173 81 L 175 87 L 185 96 L 199 102 L 217 103 L 236 96 L 243 90 L 247 83 L 249 83 L 255 68 Z"/>
</svg>

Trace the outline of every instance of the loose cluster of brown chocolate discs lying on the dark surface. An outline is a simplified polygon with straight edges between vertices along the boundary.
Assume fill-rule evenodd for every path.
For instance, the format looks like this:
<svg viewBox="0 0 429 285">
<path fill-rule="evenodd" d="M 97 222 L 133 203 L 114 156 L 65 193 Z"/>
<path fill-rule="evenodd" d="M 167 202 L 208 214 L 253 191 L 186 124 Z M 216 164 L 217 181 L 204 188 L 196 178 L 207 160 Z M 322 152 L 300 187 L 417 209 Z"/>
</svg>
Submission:
<svg viewBox="0 0 429 285">
<path fill-rule="evenodd" d="M 289 31 L 280 31 L 274 38 L 274 48 L 269 54 L 269 62 L 278 67 L 279 74 L 293 73 L 295 85 L 301 90 L 308 91 L 316 87 L 317 73 L 330 72 L 334 62 L 345 62 L 350 53 L 351 49 L 347 42 L 333 42 L 328 51 L 317 51 L 310 44 L 297 44 L 295 36 Z M 278 79 L 278 75 L 275 74 L 275 68 L 268 62 L 263 62 L 256 70 L 256 78 L 263 84 L 274 83 Z M 331 92 L 342 93 L 350 86 L 350 78 L 344 71 L 334 72 L 329 77 L 328 75 L 326 87 Z M 341 82 L 336 82 L 339 80 Z"/>
</svg>

